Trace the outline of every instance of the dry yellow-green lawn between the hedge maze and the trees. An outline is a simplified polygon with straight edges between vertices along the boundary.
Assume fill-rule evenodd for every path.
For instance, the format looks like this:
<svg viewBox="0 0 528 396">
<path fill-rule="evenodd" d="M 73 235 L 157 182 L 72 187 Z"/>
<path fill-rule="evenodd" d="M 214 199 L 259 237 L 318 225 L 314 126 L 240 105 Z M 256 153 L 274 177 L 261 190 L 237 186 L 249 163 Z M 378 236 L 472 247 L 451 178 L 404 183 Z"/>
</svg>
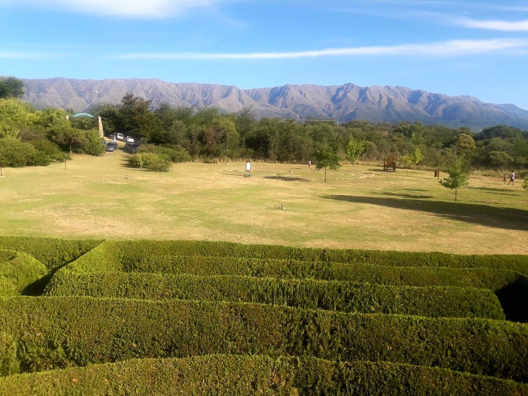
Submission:
<svg viewBox="0 0 528 396">
<path fill-rule="evenodd" d="M 323 183 L 315 166 L 253 162 L 244 177 L 245 163 L 185 163 L 157 173 L 127 167 L 127 157 L 4 168 L 0 234 L 528 254 L 522 180 L 471 177 L 455 202 L 432 171 L 346 165 Z"/>
</svg>

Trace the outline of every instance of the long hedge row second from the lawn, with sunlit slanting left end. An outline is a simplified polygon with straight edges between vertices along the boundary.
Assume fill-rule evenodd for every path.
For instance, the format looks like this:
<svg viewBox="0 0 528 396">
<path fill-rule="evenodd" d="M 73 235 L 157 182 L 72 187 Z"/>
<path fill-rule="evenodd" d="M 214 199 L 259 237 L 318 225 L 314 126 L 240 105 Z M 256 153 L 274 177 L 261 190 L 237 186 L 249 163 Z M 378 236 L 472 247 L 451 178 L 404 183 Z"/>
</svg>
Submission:
<svg viewBox="0 0 528 396">
<path fill-rule="evenodd" d="M 516 271 L 487 268 L 392 267 L 278 259 L 212 256 L 138 257 L 121 263 L 115 246 L 103 243 L 70 263 L 76 272 L 157 272 L 163 274 L 241 275 L 281 279 L 314 278 L 393 286 L 459 286 L 501 289 L 528 278 Z"/>
</svg>

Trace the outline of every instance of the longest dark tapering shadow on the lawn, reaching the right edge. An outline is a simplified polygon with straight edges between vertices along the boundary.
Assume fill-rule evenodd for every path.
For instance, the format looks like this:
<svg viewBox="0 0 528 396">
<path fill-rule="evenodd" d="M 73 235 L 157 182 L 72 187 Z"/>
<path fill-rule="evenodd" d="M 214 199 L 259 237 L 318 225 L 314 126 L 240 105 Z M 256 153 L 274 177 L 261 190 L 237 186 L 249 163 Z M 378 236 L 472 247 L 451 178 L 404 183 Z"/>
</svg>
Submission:
<svg viewBox="0 0 528 396">
<path fill-rule="evenodd" d="M 324 195 L 327 200 L 351 203 L 366 203 L 418 212 L 436 214 L 442 218 L 466 223 L 485 225 L 487 227 L 509 230 L 528 230 L 528 211 L 511 208 L 497 208 L 489 205 L 477 205 L 461 202 L 422 201 L 417 199 L 400 199 L 389 197 L 372 197 L 356 195 Z"/>
</svg>

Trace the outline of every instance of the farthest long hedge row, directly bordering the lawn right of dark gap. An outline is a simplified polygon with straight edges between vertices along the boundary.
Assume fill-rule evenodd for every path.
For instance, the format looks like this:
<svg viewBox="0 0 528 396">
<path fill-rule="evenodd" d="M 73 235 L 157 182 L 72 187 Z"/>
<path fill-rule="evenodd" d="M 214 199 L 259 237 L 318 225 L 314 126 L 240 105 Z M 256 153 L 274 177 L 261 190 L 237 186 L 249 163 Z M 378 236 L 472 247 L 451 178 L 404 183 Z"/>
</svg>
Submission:
<svg viewBox="0 0 528 396">
<path fill-rule="evenodd" d="M 135 270 L 134 266 L 139 263 L 150 262 L 162 259 L 160 265 L 167 260 L 174 258 L 175 263 L 188 258 L 180 256 L 203 256 L 206 258 L 196 258 L 195 262 L 203 260 L 205 263 L 211 263 L 216 260 L 223 262 L 226 266 L 234 262 L 248 262 L 251 259 L 265 260 L 264 264 L 268 266 L 269 260 L 287 260 L 288 266 L 312 265 L 314 268 L 323 266 L 324 263 L 344 263 L 350 264 L 370 264 L 390 267 L 432 267 L 432 268 L 480 268 L 480 269 L 505 269 L 521 272 L 528 275 L 528 260 L 521 254 L 493 254 L 493 255 L 462 255 L 439 252 L 403 252 L 403 251 L 378 251 L 378 250 L 355 250 L 355 249 L 319 249 L 319 248 L 295 248 L 288 246 L 273 246 L 264 244 L 242 244 L 233 242 L 210 242 L 210 241 L 106 241 L 104 243 L 108 249 L 99 259 L 93 263 L 100 262 L 100 259 L 114 260 L 121 263 L 124 268 Z M 130 249 L 134 246 L 134 249 Z M 99 252 L 99 251 L 98 251 Z M 94 252 L 95 253 L 95 252 Z M 90 259 L 91 253 L 86 259 Z M 111 257 L 110 257 L 111 256 Z M 225 260 L 220 259 L 225 258 Z M 84 258 L 81 258 L 83 260 Z M 300 262 L 300 263 L 299 263 Z M 317 263 L 317 264 L 314 264 Z M 258 263 L 257 263 L 258 264 Z M 282 263 L 285 266 L 287 263 Z M 232 265 L 232 264 L 231 264 Z M 274 264 L 277 266 L 277 263 Z M 247 265 L 245 265 L 247 266 Z M 258 265 L 262 268 L 262 265 Z M 167 267 L 167 265 L 165 265 Z M 327 266 L 328 267 L 328 266 Z M 92 269 L 91 271 L 96 271 Z M 128 269 L 125 269 L 128 271 Z M 288 271 L 286 268 L 285 271 Z M 158 272 L 163 271 L 159 269 Z M 257 272 L 225 272 L 225 275 L 253 275 L 260 276 L 262 269 L 256 269 Z M 208 272 L 209 274 L 219 274 L 219 272 Z M 221 274 L 221 272 L 220 272 Z M 205 275 L 205 274 L 204 274 Z M 263 275 L 275 276 L 275 275 Z M 297 276 L 298 277 L 298 276 Z M 303 277 L 313 277 L 306 275 Z M 335 279 L 321 277 L 321 279 Z M 353 280 L 343 279 L 341 280 Z"/>
</svg>

